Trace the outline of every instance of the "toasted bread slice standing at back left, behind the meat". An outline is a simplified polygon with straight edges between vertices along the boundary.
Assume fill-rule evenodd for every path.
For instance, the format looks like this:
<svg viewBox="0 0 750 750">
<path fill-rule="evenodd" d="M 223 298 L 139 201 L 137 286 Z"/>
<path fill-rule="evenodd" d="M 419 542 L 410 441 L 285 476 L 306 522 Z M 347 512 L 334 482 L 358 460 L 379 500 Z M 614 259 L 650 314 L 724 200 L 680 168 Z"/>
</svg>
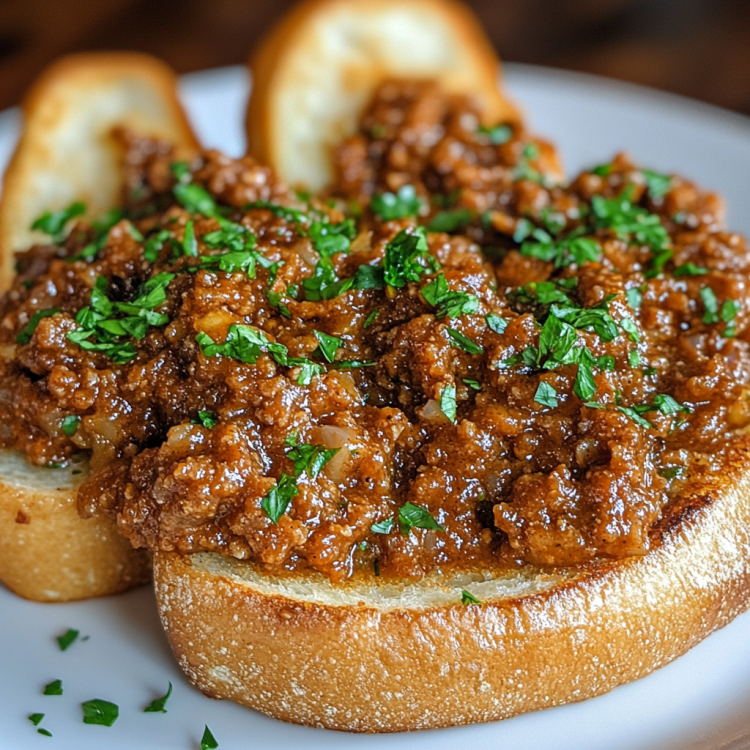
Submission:
<svg viewBox="0 0 750 750">
<path fill-rule="evenodd" d="M 177 78 L 148 55 L 91 53 L 53 63 L 23 102 L 23 131 L 0 201 L 0 290 L 13 278 L 13 253 L 44 235 L 34 219 L 74 201 L 96 217 L 120 202 L 119 151 L 111 131 L 194 149 L 197 141 L 177 99 Z"/>
</svg>

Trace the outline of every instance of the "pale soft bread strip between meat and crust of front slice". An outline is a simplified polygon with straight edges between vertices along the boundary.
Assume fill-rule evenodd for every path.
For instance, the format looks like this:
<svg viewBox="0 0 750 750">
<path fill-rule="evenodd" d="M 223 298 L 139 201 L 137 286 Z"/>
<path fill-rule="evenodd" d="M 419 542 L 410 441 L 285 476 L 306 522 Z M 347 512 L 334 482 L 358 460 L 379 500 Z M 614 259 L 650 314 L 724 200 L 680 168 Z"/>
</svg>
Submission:
<svg viewBox="0 0 750 750">
<path fill-rule="evenodd" d="M 516 599 L 548 591 L 575 575 L 573 571 L 545 573 L 527 566 L 502 575 L 489 572 L 431 575 L 421 581 L 402 584 L 355 581 L 332 586 L 323 576 L 271 576 L 249 563 L 214 553 L 191 555 L 190 561 L 199 571 L 229 578 L 237 585 L 249 587 L 264 596 L 281 596 L 290 601 L 334 607 L 364 604 L 381 611 L 460 604 L 464 590 L 483 602 Z"/>
</svg>

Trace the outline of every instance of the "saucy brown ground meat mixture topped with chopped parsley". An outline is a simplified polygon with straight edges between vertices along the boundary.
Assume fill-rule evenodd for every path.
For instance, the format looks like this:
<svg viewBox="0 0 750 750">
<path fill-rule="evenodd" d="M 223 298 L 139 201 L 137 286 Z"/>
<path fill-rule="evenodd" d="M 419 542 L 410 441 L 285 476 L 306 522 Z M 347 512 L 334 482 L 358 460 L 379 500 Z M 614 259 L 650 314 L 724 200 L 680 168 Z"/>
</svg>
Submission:
<svg viewBox="0 0 750 750">
<path fill-rule="evenodd" d="M 2 445 L 90 455 L 84 516 L 270 572 L 644 554 L 750 423 L 722 204 L 389 82 L 323 196 L 121 132 L 125 202 L 36 223 L 0 302 Z"/>
</svg>

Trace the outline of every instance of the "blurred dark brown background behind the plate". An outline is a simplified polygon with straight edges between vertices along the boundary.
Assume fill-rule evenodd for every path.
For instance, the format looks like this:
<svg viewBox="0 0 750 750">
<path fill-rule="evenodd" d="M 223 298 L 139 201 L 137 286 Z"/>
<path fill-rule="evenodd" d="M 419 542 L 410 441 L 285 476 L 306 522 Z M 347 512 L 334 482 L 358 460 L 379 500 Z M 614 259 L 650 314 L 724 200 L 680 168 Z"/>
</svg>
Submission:
<svg viewBox="0 0 750 750">
<path fill-rule="evenodd" d="M 77 50 L 179 72 L 244 62 L 293 0 L 0 0 L 0 108 Z M 750 114 L 749 0 L 469 0 L 506 60 L 621 78 Z"/>
</svg>

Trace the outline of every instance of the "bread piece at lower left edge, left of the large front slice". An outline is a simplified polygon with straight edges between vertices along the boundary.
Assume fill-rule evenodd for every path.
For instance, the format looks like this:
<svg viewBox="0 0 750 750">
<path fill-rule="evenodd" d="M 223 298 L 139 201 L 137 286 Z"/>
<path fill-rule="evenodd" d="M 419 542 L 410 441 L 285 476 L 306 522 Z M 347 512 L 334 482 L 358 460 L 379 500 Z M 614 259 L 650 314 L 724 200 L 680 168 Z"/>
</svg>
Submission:
<svg viewBox="0 0 750 750">
<path fill-rule="evenodd" d="M 67 602 L 146 583 L 151 561 L 104 518 L 76 511 L 85 463 L 61 469 L 0 451 L 0 581 L 26 599 Z M 73 472 L 79 472 L 74 474 Z"/>
</svg>

